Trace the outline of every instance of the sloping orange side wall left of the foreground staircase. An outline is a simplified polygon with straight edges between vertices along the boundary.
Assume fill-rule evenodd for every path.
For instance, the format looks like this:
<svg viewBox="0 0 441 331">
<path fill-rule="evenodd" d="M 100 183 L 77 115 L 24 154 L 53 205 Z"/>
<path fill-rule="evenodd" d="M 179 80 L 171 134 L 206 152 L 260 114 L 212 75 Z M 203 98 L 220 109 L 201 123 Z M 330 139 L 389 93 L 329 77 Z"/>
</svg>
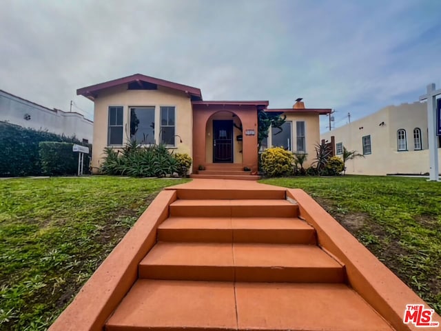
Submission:
<svg viewBox="0 0 441 331">
<path fill-rule="evenodd" d="M 163 190 L 81 288 L 49 331 L 102 331 L 105 321 L 138 279 L 138 265 L 156 243 L 176 191 Z"/>
</svg>

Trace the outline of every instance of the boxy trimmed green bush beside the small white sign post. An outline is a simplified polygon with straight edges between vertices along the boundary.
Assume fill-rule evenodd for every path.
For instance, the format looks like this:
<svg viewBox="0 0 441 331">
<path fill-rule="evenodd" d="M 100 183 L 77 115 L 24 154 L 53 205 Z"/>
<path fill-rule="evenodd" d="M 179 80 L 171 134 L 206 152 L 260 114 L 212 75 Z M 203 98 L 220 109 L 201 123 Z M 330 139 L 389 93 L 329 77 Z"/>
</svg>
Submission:
<svg viewBox="0 0 441 331">
<path fill-rule="evenodd" d="M 72 152 L 73 143 L 43 141 L 39 146 L 43 174 L 59 176 L 78 172 L 78 153 Z"/>
</svg>

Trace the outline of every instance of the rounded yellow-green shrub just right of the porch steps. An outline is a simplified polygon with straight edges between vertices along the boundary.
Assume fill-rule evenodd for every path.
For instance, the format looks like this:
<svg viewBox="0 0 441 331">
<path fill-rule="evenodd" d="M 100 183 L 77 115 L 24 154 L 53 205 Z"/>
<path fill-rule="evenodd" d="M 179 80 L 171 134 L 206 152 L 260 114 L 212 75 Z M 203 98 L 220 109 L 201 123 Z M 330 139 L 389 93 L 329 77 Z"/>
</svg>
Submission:
<svg viewBox="0 0 441 331">
<path fill-rule="evenodd" d="M 268 148 L 260 158 L 263 171 L 270 177 L 283 176 L 292 172 L 293 154 L 283 148 Z"/>
</svg>

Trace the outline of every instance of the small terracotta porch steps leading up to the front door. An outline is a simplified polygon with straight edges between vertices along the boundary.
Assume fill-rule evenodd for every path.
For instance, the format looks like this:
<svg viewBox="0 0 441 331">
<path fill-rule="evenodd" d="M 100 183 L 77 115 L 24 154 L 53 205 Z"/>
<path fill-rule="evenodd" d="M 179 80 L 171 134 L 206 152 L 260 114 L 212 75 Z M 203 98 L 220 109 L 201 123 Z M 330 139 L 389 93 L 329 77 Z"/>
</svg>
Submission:
<svg viewBox="0 0 441 331">
<path fill-rule="evenodd" d="M 205 170 L 198 170 L 197 174 L 191 174 L 191 178 L 198 179 L 240 179 L 256 181 L 259 176 L 252 175 L 251 171 L 243 170 L 245 166 L 238 163 L 209 163 Z"/>
</svg>

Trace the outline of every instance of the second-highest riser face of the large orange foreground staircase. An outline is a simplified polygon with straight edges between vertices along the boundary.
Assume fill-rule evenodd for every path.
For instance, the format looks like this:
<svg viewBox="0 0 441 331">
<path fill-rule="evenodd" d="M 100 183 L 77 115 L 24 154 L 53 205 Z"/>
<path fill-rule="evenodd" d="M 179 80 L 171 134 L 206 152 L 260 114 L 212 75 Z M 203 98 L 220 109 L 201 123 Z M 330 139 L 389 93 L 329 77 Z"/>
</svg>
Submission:
<svg viewBox="0 0 441 331">
<path fill-rule="evenodd" d="M 298 205 L 170 205 L 172 217 L 298 217 Z"/>
</svg>

